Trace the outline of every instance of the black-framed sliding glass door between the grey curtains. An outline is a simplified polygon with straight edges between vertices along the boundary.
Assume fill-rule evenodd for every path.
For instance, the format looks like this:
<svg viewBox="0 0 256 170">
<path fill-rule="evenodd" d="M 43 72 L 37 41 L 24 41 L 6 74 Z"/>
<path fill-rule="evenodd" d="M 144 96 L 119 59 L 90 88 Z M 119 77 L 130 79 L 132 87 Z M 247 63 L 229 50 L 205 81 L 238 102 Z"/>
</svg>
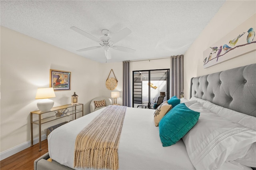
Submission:
<svg viewBox="0 0 256 170">
<path fill-rule="evenodd" d="M 133 71 L 132 107 L 153 107 L 159 96 L 164 96 L 164 101 L 169 99 L 169 71 L 170 69 Z"/>
</svg>

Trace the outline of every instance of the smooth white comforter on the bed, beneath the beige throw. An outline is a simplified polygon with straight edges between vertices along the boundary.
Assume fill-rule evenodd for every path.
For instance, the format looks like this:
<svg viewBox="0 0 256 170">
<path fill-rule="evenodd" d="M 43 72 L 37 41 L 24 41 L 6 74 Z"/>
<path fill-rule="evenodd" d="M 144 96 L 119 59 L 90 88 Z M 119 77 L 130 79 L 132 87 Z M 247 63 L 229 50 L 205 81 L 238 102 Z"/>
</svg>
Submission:
<svg viewBox="0 0 256 170">
<path fill-rule="evenodd" d="M 60 164 L 74 168 L 76 136 L 101 111 L 102 109 L 53 130 L 48 136 L 50 157 Z M 127 108 L 118 148 L 119 169 L 194 169 L 182 140 L 169 147 L 162 146 L 159 128 L 154 125 L 154 111 Z"/>
</svg>

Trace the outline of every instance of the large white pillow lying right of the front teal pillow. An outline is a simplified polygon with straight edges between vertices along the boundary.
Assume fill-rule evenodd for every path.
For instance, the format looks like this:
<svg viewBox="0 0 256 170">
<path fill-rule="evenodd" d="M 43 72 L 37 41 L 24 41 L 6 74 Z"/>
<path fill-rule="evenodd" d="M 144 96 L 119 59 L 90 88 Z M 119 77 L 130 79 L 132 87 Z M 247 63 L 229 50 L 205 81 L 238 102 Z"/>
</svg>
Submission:
<svg viewBox="0 0 256 170">
<path fill-rule="evenodd" d="M 196 125 L 182 138 L 196 169 L 217 169 L 225 161 L 244 158 L 256 142 L 256 130 L 219 117 L 200 103 L 189 109 L 200 112 Z"/>
</svg>

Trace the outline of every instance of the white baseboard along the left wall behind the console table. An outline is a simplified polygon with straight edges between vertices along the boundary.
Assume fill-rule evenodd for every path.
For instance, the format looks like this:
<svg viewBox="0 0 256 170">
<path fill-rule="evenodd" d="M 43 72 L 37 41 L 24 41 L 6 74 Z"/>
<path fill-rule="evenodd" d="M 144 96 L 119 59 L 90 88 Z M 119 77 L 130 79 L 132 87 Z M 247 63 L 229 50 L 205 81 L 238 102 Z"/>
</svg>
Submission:
<svg viewBox="0 0 256 170">
<path fill-rule="evenodd" d="M 45 140 L 46 139 L 46 135 L 43 134 L 41 136 L 41 140 Z M 34 138 L 33 140 L 33 144 L 37 144 L 39 142 L 39 137 Z M 9 150 L 6 150 L 4 152 L 0 153 L 0 160 L 4 160 L 5 158 L 8 158 L 9 156 L 12 156 L 26 148 L 29 148 L 31 146 L 31 141 L 25 142 L 23 144 L 20 144 L 18 146 L 15 146 L 14 148 L 10 148 Z"/>
</svg>

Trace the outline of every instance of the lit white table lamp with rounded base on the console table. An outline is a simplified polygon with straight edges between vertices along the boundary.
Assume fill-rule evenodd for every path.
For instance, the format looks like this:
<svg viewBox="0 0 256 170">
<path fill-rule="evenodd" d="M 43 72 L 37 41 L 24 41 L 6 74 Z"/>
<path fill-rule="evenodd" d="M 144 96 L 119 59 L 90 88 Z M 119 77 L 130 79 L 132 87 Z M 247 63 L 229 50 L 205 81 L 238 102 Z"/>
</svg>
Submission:
<svg viewBox="0 0 256 170">
<path fill-rule="evenodd" d="M 42 99 L 37 103 L 40 111 L 50 111 L 54 105 L 54 101 L 48 99 L 56 97 L 52 87 L 38 88 L 36 91 L 36 99 Z"/>
</svg>

